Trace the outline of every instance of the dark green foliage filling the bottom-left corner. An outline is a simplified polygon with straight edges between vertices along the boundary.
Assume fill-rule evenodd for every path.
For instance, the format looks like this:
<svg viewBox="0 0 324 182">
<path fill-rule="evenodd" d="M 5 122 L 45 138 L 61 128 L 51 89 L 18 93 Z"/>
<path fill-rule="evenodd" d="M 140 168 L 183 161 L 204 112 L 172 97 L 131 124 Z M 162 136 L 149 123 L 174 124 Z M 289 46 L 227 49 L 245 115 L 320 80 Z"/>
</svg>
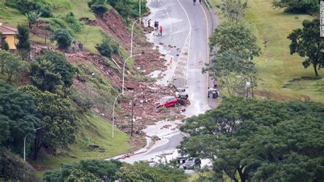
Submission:
<svg viewBox="0 0 324 182">
<path fill-rule="evenodd" d="M 0 147 L 0 180 L 38 181 L 36 171 L 21 157 L 11 153 L 8 148 Z M 2 181 L 2 180 L 1 180 Z"/>
</svg>

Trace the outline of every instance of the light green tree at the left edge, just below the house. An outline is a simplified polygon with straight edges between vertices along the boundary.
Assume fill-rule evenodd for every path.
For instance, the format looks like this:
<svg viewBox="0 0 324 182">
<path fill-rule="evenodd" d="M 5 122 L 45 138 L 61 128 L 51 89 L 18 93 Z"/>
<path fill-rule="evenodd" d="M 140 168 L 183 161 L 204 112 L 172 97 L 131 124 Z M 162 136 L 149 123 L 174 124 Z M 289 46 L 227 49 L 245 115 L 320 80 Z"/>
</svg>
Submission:
<svg viewBox="0 0 324 182">
<path fill-rule="evenodd" d="M 8 81 L 11 81 L 12 75 L 18 75 L 28 70 L 28 65 L 21 60 L 21 57 L 2 50 L 0 50 L 0 66 L 1 73 L 8 75 Z"/>
</svg>

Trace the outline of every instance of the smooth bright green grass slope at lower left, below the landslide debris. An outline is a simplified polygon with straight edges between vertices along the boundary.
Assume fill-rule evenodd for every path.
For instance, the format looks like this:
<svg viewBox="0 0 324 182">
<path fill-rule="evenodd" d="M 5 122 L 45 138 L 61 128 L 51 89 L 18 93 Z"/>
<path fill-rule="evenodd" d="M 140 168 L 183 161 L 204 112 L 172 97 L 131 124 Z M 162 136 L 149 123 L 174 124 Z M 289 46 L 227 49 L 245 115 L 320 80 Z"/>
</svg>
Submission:
<svg viewBox="0 0 324 182">
<path fill-rule="evenodd" d="M 77 122 L 77 142 L 70 145 L 68 151 L 62 151 L 61 155 L 49 156 L 40 153 L 39 159 L 32 162 L 33 165 L 56 169 L 62 164 L 75 163 L 85 159 L 106 159 L 121 153 L 129 152 L 127 141 L 129 136 L 115 127 L 114 138 L 111 138 L 112 125 L 100 116 L 89 113 L 80 115 Z M 100 148 L 90 149 L 90 144 L 96 144 Z M 38 172 L 42 177 L 44 172 Z"/>
</svg>

